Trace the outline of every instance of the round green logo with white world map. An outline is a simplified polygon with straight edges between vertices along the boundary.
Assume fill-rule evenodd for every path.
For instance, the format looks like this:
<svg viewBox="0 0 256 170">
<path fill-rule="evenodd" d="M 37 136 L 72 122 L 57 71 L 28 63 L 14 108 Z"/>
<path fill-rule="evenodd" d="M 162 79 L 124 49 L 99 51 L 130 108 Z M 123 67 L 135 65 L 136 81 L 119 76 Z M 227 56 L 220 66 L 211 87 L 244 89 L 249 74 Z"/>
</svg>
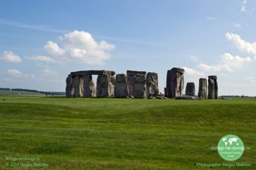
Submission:
<svg viewBox="0 0 256 170">
<path fill-rule="evenodd" d="M 218 153 L 224 160 L 234 161 L 240 159 L 245 147 L 243 141 L 234 134 L 223 136 L 218 143 Z"/>
</svg>

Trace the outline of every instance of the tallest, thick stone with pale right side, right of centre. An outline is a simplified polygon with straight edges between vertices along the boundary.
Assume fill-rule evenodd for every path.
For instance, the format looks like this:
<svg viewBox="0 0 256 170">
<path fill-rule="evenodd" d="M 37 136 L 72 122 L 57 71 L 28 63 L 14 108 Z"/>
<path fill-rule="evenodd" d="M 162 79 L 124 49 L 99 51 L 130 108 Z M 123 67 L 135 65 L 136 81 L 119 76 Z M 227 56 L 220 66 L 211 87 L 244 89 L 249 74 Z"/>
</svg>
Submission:
<svg viewBox="0 0 256 170">
<path fill-rule="evenodd" d="M 167 71 L 167 81 L 165 87 L 165 96 L 175 98 L 182 96 L 184 89 L 184 72 L 182 68 L 172 68 Z"/>
</svg>

